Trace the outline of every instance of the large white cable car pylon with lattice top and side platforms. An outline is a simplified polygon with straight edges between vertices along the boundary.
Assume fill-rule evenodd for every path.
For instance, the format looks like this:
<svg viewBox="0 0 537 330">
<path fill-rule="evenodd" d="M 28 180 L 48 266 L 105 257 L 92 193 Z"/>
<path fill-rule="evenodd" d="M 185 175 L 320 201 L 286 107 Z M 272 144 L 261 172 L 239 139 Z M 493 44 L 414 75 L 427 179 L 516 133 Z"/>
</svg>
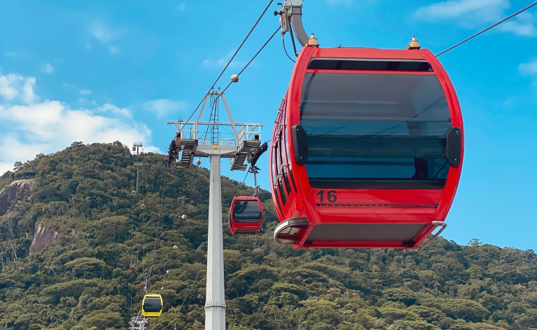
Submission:
<svg viewBox="0 0 537 330">
<path fill-rule="evenodd" d="M 238 81 L 232 77 L 232 82 Z M 202 122 L 207 102 L 218 111 L 218 99 L 222 100 L 229 122 L 218 122 L 218 113 Z M 207 279 L 205 300 L 205 329 L 226 329 L 226 303 L 224 295 L 224 248 L 222 243 L 222 185 L 220 182 L 220 160 L 231 158 L 231 170 L 244 171 L 251 155 L 258 153 L 261 146 L 260 123 L 234 122 L 223 92 L 209 91 L 203 100 L 196 121 L 168 121 L 175 125 L 177 134 L 170 143 L 168 165 L 176 168 L 191 168 L 194 157 L 208 157 L 210 165 L 209 186 L 209 235 L 207 246 Z M 214 134 L 218 127 L 231 127 L 233 138 L 221 138 Z M 203 132 L 200 134 L 200 132 Z"/>
</svg>

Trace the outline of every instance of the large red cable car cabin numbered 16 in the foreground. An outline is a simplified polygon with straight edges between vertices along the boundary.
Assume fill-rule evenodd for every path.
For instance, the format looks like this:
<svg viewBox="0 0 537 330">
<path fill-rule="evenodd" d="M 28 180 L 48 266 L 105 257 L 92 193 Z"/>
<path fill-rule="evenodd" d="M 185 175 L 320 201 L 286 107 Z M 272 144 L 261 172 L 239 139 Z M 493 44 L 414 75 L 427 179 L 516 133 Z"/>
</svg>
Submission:
<svg viewBox="0 0 537 330">
<path fill-rule="evenodd" d="M 426 49 L 302 49 L 272 135 L 274 238 L 296 248 L 417 248 L 461 175 L 455 89 Z"/>
</svg>

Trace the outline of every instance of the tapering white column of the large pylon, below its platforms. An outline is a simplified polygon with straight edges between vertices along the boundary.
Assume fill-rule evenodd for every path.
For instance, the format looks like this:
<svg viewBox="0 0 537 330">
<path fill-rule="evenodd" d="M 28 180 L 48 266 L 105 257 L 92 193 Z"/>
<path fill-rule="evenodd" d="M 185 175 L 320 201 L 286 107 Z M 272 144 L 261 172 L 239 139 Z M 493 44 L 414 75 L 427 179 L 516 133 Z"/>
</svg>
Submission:
<svg viewBox="0 0 537 330">
<path fill-rule="evenodd" d="M 207 246 L 207 285 L 205 300 L 205 330 L 226 329 L 224 296 L 224 248 L 222 240 L 222 185 L 220 183 L 220 153 L 211 154 L 211 184 L 209 188 L 209 242 Z"/>
</svg>

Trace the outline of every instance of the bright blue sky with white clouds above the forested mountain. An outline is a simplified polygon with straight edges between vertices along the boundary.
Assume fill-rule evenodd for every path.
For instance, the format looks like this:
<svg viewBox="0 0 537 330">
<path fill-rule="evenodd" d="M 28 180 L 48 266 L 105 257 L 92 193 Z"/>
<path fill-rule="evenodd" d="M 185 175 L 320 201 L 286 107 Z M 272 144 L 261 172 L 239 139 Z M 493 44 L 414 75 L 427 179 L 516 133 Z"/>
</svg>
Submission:
<svg viewBox="0 0 537 330">
<path fill-rule="evenodd" d="M 404 48 L 415 34 L 438 53 L 529 2 L 308 0 L 303 22 L 322 46 Z M 1 0 L 0 172 L 75 140 L 143 140 L 146 151 L 164 152 L 175 131 L 166 120 L 188 117 L 266 3 Z M 274 31 L 276 9 L 217 86 Z M 459 244 L 537 248 L 536 19 L 537 8 L 528 10 L 440 57 L 466 129 L 443 235 Z M 268 140 L 291 70 L 276 35 L 227 91 L 234 119 L 262 122 Z M 226 164 L 222 174 L 242 181 Z M 268 189 L 266 156 L 260 164 Z"/>
</svg>

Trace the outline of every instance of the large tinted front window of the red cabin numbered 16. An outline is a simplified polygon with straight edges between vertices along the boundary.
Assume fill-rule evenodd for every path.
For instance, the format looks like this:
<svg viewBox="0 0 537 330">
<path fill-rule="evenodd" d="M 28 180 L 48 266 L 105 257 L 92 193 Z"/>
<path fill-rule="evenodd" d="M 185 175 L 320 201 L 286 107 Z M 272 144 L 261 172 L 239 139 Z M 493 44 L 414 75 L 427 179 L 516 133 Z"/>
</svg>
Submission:
<svg viewBox="0 0 537 330">
<path fill-rule="evenodd" d="M 312 187 L 445 185 L 451 120 L 436 76 L 306 73 L 300 110 Z"/>
</svg>

